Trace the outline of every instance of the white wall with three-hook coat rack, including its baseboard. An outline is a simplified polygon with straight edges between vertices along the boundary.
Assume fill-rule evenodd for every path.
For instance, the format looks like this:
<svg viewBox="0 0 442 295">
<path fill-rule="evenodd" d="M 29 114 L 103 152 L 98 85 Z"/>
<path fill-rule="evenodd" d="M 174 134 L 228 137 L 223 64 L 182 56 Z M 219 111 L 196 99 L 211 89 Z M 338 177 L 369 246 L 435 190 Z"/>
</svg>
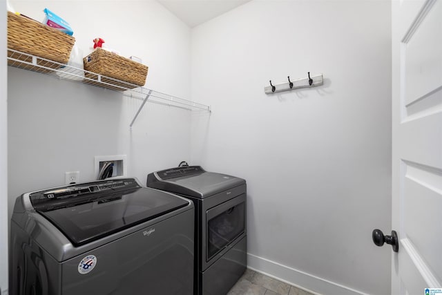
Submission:
<svg viewBox="0 0 442 295">
<path fill-rule="evenodd" d="M 248 184 L 249 267 L 321 294 L 388 294 L 389 1 L 251 1 L 192 31 L 192 164 Z M 265 95 L 323 73 L 323 86 Z"/>
</svg>

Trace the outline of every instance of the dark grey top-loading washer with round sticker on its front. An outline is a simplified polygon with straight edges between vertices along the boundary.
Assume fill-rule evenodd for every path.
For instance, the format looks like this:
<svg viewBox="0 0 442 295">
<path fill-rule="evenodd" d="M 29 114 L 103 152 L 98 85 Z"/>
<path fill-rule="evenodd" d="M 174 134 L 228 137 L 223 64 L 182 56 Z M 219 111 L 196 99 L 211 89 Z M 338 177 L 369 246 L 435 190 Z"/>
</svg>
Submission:
<svg viewBox="0 0 442 295">
<path fill-rule="evenodd" d="M 193 294 L 194 206 L 135 178 L 24 193 L 10 294 Z"/>
</svg>

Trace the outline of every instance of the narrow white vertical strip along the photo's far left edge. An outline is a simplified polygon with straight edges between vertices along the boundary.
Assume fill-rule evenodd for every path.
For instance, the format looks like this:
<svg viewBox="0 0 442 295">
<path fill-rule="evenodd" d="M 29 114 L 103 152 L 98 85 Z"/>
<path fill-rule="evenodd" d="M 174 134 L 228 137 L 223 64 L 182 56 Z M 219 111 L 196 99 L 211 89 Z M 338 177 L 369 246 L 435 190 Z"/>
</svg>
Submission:
<svg viewBox="0 0 442 295">
<path fill-rule="evenodd" d="M 0 0 L 1 10 L 6 1 Z M 8 113 L 6 106 L 6 14 L 0 15 L 0 289 L 8 292 Z"/>
</svg>

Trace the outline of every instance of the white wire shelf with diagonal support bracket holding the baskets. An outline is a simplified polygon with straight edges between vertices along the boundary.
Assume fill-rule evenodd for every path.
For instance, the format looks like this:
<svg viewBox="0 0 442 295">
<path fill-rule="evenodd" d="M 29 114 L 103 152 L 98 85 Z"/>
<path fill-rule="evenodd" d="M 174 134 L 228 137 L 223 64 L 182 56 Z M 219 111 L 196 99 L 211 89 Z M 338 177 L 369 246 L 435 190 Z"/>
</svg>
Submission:
<svg viewBox="0 0 442 295">
<path fill-rule="evenodd" d="M 22 53 L 9 48 L 8 66 L 32 70 L 34 72 L 44 73 L 60 79 L 68 79 L 69 81 L 81 82 L 110 89 L 112 91 L 121 91 L 124 96 L 142 99 L 143 103 L 135 114 L 135 117 L 131 122 L 131 127 L 147 101 L 166 104 L 168 106 L 177 106 L 191 111 L 200 110 L 211 112 L 211 107 L 206 106 L 205 104 L 199 104 L 198 102 L 192 102 L 190 100 L 168 95 L 166 93 L 160 93 L 158 91 L 137 86 L 135 84 L 106 77 L 104 75 L 99 75 L 82 68 L 76 68 L 75 66 L 69 66 L 67 64 L 60 64 L 57 61 L 51 61 L 49 59 L 29 55 L 28 53 Z"/>
</svg>

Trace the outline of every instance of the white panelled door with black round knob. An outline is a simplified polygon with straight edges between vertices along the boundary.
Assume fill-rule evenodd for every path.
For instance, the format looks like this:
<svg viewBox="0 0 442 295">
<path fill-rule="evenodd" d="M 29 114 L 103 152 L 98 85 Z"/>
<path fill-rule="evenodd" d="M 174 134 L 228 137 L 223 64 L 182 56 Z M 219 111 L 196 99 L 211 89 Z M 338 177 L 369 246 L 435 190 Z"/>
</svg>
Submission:
<svg viewBox="0 0 442 295">
<path fill-rule="evenodd" d="M 392 0 L 392 61 L 392 294 L 419 295 L 442 288 L 442 0 Z"/>
</svg>

